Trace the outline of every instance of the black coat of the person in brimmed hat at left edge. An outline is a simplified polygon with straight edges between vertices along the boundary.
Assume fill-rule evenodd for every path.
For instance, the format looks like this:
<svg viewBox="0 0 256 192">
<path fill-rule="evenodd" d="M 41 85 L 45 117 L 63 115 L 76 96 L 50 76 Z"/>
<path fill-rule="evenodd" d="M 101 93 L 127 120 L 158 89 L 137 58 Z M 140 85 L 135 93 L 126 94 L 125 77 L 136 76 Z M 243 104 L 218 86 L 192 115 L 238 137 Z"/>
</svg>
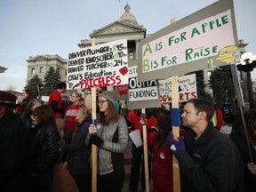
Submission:
<svg viewBox="0 0 256 192">
<path fill-rule="evenodd" d="M 0 191 L 28 191 L 28 129 L 10 112 L 0 118 Z"/>
</svg>

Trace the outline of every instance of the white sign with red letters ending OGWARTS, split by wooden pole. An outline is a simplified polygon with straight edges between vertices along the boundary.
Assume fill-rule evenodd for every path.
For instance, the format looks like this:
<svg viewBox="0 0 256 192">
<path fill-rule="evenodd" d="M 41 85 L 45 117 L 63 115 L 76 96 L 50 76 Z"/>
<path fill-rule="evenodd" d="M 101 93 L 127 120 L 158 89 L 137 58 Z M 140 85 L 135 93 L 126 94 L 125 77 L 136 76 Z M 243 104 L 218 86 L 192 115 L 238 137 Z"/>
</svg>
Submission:
<svg viewBox="0 0 256 192">
<path fill-rule="evenodd" d="M 159 93 L 161 102 L 172 102 L 172 83 L 170 78 L 159 80 Z M 178 77 L 178 95 L 179 102 L 197 98 L 196 74 Z"/>
</svg>

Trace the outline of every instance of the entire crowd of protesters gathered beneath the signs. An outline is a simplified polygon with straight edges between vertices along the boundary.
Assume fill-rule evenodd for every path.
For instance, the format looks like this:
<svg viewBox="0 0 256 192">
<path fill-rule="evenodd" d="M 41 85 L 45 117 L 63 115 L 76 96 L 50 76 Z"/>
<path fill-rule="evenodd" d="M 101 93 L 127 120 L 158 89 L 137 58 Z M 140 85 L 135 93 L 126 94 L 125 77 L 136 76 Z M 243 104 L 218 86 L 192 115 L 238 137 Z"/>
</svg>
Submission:
<svg viewBox="0 0 256 192">
<path fill-rule="evenodd" d="M 153 192 L 173 191 L 173 156 L 179 162 L 181 191 L 256 191 L 256 108 L 239 116 L 227 137 L 220 132 L 221 110 L 211 100 L 182 102 L 177 138 L 172 133 L 172 113 L 176 113 L 172 103 L 146 108 L 144 117 L 140 108 L 128 110 L 126 101 L 118 102 L 116 92 L 97 88 L 97 123 L 93 124 L 91 88 L 84 88 L 84 98 L 80 92 L 71 93 L 70 98 L 66 87 L 64 82 L 58 84 L 47 104 L 28 89 L 20 105 L 14 95 L 0 91 L 0 191 L 52 191 L 56 164 L 63 164 L 80 192 L 92 191 L 95 145 L 97 191 L 121 192 L 129 142 L 131 192 L 146 191 L 143 145 L 148 145 Z M 129 136 L 133 131 L 140 132 L 139 147 Z M 61 157 L 60 138 L 67 144 Z"/>
</svg>

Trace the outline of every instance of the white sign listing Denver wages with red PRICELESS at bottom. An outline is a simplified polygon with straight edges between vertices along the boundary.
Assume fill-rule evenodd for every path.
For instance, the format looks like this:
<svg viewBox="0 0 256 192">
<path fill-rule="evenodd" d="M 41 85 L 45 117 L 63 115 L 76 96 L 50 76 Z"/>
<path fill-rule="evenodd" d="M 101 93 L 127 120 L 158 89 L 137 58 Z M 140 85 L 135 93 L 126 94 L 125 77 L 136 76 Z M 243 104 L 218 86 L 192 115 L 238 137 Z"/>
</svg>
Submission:
<svg viewBox="0 0 256 192">
<path fill-rule="evenodd" d="M 127 39 L 68 54 L 68 89 L 128 84 Z"/>
</svg>

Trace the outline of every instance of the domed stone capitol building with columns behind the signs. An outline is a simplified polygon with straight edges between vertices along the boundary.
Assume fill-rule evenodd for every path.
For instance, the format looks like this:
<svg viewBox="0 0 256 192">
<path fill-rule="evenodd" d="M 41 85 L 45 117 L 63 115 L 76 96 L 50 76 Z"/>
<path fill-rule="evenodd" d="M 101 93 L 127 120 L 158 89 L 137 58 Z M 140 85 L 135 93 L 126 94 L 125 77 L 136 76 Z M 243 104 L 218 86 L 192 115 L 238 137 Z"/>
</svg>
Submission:
<svg viewBox="0 0 256 192">
<path fill-rule="evenodd" d="M 146 28 L 140 26 L 135 16 L 130 12 L 131 7 L 127 3 L 124 7 L 124 13 L 119 20 L 116 20 L 107 26 L 93 30 L 89 36 L 91 39 L 82 39 L 78 43 L 78 47 L 85 48 L 92 45 L 92 38 L 95 38 L 95 44 L 104 44 L 118 39 L 127 38 L 128 46 L 128 63 L 129 66 L 137 65 L 138 61 L 138 43 L 141 39 L 146 38 Z M 44 80 L 45 73 L 52 66 L 60 73 L 61 81 L 67 79 L 67 59 L 61 58 L 59 55 L 37 55 L 36 57 L 29 57 L 28 73 L 26 84 L 29 79 L 37 75 Z"/>
</svg>

